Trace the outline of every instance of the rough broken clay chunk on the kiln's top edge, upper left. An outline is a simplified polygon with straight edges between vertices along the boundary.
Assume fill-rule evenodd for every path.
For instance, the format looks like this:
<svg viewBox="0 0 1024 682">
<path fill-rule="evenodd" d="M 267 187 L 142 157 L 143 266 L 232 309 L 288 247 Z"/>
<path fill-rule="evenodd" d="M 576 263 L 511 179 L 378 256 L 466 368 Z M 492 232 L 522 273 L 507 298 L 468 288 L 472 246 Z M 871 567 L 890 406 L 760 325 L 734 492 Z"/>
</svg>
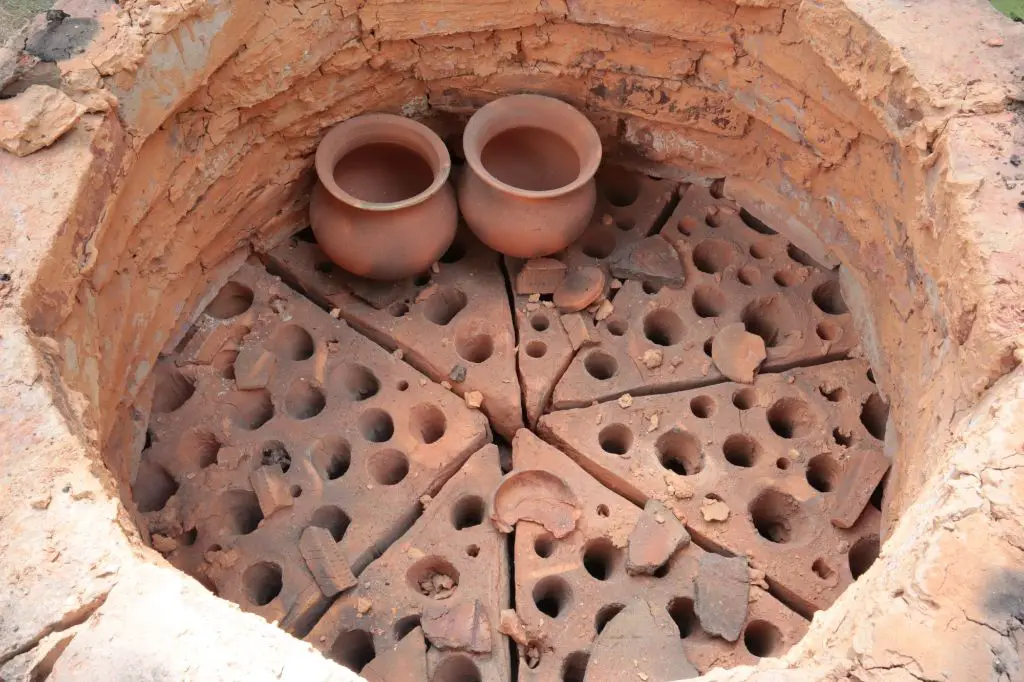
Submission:
<svg viewBox="0 0 1024 682">
<path fill-rule="evenodd" d="M 0 147 L 24 157 L 52 144 L 71 130 L 85 106 L 48 85 L 31 85 L 0 101 Z"/>
</svg>

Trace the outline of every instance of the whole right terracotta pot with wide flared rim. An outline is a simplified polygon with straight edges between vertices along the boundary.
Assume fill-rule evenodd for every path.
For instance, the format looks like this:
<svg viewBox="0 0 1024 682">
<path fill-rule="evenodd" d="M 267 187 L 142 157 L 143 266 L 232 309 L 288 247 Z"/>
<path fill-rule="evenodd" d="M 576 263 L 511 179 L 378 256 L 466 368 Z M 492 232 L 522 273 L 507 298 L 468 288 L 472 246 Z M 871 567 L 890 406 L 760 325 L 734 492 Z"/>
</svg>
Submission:
<svg viewBox="0 0 1024 682">
<path fill-rule="evenodd" d="M 459 208 L 480 241 L 518 258 L 561 251 L 590 221 L 601 138 L 583 114 L 541 95 L 512 95 L 473 115 Z"/>
</svg>

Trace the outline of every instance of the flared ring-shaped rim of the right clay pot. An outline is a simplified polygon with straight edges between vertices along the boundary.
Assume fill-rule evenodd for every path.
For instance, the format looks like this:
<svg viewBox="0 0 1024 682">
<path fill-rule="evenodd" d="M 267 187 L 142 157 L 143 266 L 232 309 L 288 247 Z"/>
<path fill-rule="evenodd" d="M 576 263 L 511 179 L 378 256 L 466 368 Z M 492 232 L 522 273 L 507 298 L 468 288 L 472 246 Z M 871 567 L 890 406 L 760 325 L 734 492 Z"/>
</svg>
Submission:
<svg viewBox="0 0 1024 682">
<path fill-rule="evenodd" d="M 550 116 L 538 116 L 537 110 L 541 110 L 541 113 L 546 113 Z M 516 113 L 521 114 L 524 111 L 534 114 L 534 116 L 523 124 L 501 125 L 506 119 L 514 117 Z M 483 139 L 482 137 L 485 133 L 484 126 L 495 121 L 499 123 L 498 129 L 486 131 L 492 134 Z M 558 125 L 565 122 L 579 124 L 581 136 L 584 138 L 583 144 L 573 144 L 573 140 L 564 133 L 562 126 Z M 554 133 L 566 142 L 569 142 L 580 157 L 580 173 L 575 179 L 555 189 L 523 189 L 503 182 L 492 175 L 483 167 L 480 155 L 487 142 L 500 133 L 514 128 L 540 128 Z M 477 110 L 470 117 L 469 123 L 466 124 L 466 130 L 463 133 L 463 152 L 466 155 L 466 163 L 476 173 L 477 177 L 500 191 L 524 199 L 554 199 L 575 191 L 590 182 L 597 173 L 597 169 L 601 165 L 602 155 L 601 136 L 598 135 L 594 124 L 582 112 L 561 99 L 538 94 L 508 95 L 488 102 Z"/>
</svg>

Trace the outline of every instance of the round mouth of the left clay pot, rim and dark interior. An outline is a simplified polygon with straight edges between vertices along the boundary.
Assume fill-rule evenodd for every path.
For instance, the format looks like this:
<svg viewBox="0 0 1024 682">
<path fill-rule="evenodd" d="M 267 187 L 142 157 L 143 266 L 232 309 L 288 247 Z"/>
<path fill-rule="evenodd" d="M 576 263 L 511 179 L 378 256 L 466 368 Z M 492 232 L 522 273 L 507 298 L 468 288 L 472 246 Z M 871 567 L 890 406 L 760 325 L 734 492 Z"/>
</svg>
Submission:
<svg viewBox="0 0 1024 682">
<path fill-rule="evenodd" d="M 365 211 L 397 211 L 435 195 L 452 160 L 421 123 L 389 114 L 346 121 L 316 150 L 316 175 L 331 195 Z"/>
</svg>

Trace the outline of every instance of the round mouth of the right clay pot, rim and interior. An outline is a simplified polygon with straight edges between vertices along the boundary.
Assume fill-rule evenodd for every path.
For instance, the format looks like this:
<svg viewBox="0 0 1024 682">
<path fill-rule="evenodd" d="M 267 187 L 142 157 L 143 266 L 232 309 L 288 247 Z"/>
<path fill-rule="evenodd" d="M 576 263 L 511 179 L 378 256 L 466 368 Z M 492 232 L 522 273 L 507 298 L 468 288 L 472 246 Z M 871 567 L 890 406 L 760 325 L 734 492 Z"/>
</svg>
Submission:
<svg viewBox="0 0 1024 682">
<path fill-rule="evenodd" d="M 593 124 L 569 104 L 512 95 L 480 109 L 463 137 L 466 162 L 484 182 L 528 199 L 553 199 L 589 182 L 601 163 Z"/>
</svg>

